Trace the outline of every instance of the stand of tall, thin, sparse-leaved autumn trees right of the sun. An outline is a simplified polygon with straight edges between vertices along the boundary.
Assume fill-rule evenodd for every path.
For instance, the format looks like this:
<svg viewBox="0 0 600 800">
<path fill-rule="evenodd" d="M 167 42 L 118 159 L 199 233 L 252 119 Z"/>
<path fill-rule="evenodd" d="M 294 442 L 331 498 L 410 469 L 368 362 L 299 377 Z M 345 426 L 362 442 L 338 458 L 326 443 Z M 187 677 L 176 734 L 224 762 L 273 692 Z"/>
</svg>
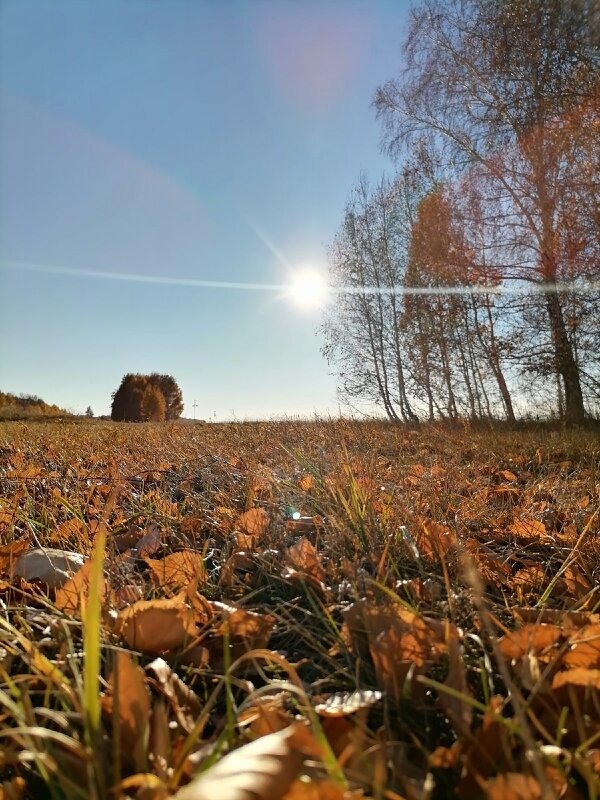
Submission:
<svg viewBox="0 0 600 800">
<path fill-rule="evenodd" d="M 408 422 L 598 411 L 594 8 L 414 10 L 405 71 L 375 95 L 396 173 L 359 180 L 331 247 L 324 352 L 344 399 Z"/>
</svg>

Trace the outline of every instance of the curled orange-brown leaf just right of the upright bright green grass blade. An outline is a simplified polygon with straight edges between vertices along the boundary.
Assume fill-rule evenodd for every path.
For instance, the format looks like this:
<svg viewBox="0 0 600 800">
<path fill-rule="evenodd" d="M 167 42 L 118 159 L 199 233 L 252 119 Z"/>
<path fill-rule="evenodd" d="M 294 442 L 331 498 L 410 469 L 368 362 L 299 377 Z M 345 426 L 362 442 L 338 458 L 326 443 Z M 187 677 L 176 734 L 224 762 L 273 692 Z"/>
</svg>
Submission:
<svg viewBox="0 0 600 800">
<path fill-rule="evenodd" d="M 132 650 L 165 653 L 196 635 L 195 612 L 181 594 L 168 600 L 138 600 L 119 612 L 115 631 Z"/>
</svg>

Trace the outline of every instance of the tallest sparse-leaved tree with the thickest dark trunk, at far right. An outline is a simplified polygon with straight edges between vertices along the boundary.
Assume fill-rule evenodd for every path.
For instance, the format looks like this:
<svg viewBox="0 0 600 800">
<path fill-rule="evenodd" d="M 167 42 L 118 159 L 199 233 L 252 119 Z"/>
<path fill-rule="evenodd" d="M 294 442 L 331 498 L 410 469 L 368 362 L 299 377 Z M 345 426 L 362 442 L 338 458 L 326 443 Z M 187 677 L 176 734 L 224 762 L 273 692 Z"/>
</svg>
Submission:
<svg viewBox="0 0 600 800">
<path fill-rule="evenodd" d="M 565 252 L 573 248 L 568 212 L 582 194 L 587 233 L 576 249 L 595 252 L 595 267 L 589 263 L 597 274 L 599 176 L 584 168 L 600 146 L 591 8 L 591 0 L 429 0 L 413 14 L 405 73 L 375 99 L 395 157 L 426 137 L 457 176 L 476 168 L 487 182 L 494 210 L 502 210 L 495 263 L 504 281 L 543 289 L 552 368 L 570 422 L 585 415 L 582 371 L 568 299 L 556 284 L 577 277 Z M 582 113 L 594 120 L 585 131 L 572 124 Z"/>
</svg>

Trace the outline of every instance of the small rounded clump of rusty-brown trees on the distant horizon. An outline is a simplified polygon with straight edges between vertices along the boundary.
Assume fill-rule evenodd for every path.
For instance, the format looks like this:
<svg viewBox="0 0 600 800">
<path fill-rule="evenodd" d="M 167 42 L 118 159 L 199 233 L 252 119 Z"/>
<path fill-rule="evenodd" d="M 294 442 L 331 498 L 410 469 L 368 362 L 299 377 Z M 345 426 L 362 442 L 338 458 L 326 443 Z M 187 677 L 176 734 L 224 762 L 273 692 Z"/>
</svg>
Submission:
<svg viewBox="0 0 600 800">
<path fill-rule="evenodd" d="M 128 373 L 112 395 L 111 418 L 120 422 L 162 422 L 182 411 L 181 389 L 171 375 Z"/>
</svg>

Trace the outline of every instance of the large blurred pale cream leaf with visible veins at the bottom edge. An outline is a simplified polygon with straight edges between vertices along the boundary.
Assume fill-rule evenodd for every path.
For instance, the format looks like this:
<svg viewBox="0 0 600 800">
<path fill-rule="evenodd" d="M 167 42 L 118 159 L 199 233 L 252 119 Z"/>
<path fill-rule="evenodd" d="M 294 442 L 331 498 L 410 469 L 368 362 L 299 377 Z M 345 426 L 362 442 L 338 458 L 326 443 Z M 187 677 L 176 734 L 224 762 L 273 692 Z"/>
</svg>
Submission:
<svg viewBox="0 0 600 800">
<path fill-rule="evenodd" d="M 229 753 L 180 789 L 174 800 L 281 800 L 304 761 L 293 746 L 295 727 Z"/>
</svg>

